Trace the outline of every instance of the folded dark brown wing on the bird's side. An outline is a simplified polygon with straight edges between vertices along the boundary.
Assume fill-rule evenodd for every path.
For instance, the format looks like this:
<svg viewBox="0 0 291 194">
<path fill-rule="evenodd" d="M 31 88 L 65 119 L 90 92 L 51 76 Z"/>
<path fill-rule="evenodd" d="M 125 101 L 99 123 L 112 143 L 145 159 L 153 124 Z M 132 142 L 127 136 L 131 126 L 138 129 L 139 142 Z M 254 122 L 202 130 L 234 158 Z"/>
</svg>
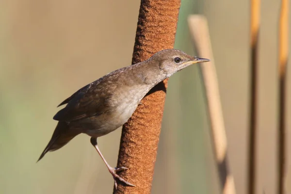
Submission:
<svg viewBox="0 0 291 194">
<path fill-rule="evenodd" d="M 75 121 L 109 111 L 111 95 L 105 95 L 101 86 L 89 84 L 65 99 L 66 107 L 53 117 L 57 121 Z"/>
</svg>

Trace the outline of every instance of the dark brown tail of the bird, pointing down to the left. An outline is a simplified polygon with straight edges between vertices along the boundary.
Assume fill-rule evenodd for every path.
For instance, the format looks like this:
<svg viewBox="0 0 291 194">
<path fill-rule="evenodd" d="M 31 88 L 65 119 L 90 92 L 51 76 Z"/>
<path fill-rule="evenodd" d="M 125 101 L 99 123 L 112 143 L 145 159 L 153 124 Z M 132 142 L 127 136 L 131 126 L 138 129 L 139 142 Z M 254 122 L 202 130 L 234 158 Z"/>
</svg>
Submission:
<svg viewBox="0 0 291 194">
<path fill-rule="evenodd" d="M 56 129 L 52 134 L 48 146 L 46 146 L 38 161 L 40 161 L 48 151 L 55 151 L 57 149 L 60 149 L 78 134 L 80 134 L 79 130 L 69 129 L 69 126 L 66 122 L 59 121 Z"/>
</svg>

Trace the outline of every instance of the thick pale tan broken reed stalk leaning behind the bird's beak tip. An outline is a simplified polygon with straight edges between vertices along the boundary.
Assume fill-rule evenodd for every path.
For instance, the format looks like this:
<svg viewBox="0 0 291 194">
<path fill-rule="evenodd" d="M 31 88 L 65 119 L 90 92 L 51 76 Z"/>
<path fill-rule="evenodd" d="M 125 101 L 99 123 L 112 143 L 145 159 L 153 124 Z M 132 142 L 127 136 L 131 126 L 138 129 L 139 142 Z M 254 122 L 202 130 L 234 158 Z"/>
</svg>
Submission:
<svg viewBox="0 0 291 194">
<path fill-rule="evenodd" d="M 189 16 L 188 24 L 198 55 L 200 57 L 205 57 L 211 60 L 207 64 L 199 65 L 199 67 L 203 78 L 204 89 L 207 99 L 215 159 L 218 167 L 218 173 L 221 183 L 220 186 L 223 194 L 235 194 L 236 192 L 234 179 L 230 173 L 226 155 L 226 131 L 221 108 L 218 81 L 214 66 L 207 19 L 201 15 Z"/>
</svg>

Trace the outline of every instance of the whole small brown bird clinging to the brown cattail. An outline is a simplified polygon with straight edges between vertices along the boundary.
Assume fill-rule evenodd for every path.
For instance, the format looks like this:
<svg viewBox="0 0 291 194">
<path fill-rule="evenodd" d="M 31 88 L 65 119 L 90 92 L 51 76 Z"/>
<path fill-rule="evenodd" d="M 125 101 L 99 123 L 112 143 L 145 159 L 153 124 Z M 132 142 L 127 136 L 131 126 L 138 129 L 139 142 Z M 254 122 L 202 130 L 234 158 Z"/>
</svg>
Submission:
<svg viewBox="0 0 291 194">
<path fill-rule="evenodd" d="M 159 82 L 189 65 L 208 61 L 177 49 L 166 49 L 144 62 L 115 70 L 82 87 L 59 105 L 67 104 L 53 117 L 59 122 L 38 161 L 48 151 L 57 150 L 76 135 L 86 133 L 112 174 L 115 187 L 117 179 L 134 186 L 116 174 L 128 168 L 113 168 L 106 162 L 97 146 L 97 137 L 125 124 L 141 99 Z"/>
</svg>

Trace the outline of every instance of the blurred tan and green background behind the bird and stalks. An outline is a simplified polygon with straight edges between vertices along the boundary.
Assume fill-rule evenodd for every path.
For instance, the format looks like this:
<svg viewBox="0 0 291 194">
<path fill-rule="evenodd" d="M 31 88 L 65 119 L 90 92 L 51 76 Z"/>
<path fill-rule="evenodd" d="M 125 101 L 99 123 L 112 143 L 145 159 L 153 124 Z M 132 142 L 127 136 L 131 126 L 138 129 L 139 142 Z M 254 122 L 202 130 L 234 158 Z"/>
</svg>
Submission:
<svg viewBox="0 0 291 194">
<path fill-rule="evenodd" d="M 130 65 L 139 6 L 139 0 L 0 1 L 0 194 L 112 193 L 112 176 L 86 135 L 36 161 L 57 124 L 56 106 L 87 83 Z M 279 8 L 280 1 L 262 1 L 258 194 L 276 193 Z M 175 43 L 195 55 L 187 16 L 207 16 L 237 194 L 247 193 L 249 10 L 248 0 L 182 0 Z M 288 96 L 290 152 L 290 84 Z M 118 129 L 98 139 L 112 166 L 120 134 Z M 197 66 L 169 80 L 152 188 L 152 194 L 193 193 L 220 193 Z"/>
</svg>

